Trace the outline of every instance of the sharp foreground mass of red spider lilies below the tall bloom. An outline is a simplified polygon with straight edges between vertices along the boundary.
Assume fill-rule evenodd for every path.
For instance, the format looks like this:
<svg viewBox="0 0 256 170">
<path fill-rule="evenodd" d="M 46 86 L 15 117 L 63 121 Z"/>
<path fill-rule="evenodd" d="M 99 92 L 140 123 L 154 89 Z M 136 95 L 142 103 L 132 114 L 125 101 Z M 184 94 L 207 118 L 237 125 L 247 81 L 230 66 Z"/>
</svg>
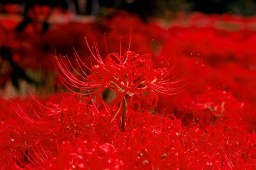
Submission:
<svg viewBox="0 0 256 170">
<path fill-rule="evenodd" d="M 6 168 L 254 169 L 256 166 L 256 134 L 245 132 L 248 125 L 232 118 L 243 115 L 241 106 L 216 103 L 207 110 L 193 109 L 199 116 L 189 120 L 190 125 L 182 126 L 183 120 L 177 120 L 173 114 L 152 115 L 134 104 L 127 115 L 127 130 L 122 133 L 118 121 L 109 123 L 117 106 L 100 109 L 93 100 L 84 104 L 79 95 L 65 93 L 45 100 L 36 99 L 34 93 L 31 96 L 33 100 L 13 100 L 10 104 L 15 111 L 6 109 L 1 114 L 1 162 Z M 221 98 L 228 100 L 230 94 Z M 2 105 L 10 107 L 5 101 Z M 211 116 L 207 112 L 214 118 L 200 123 Z"/>
</svg>

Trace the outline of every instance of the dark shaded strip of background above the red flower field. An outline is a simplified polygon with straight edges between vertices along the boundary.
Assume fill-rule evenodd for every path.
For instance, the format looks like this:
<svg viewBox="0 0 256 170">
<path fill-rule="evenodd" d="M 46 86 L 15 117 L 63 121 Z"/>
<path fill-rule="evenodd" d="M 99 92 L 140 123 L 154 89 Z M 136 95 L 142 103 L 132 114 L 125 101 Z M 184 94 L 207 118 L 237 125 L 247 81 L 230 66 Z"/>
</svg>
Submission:
<svg viewBox="0 0 256 170">
<path fill-rule="evenodd" d="M 237 15 L 256 14 L 256 0 L 3 0 L 1 3 L 21 3 L 25 6 L 25 12 L 34 4 L 61 6 L 63 10 L 70 8 L 70 5 L 72 5 L 77 14 L 86 15 L 104 15 L 106 12 L 105 8 L 113 8 L 138 13 L 143 18 L 152 16 L 168 17 L 180 11 L 232 13 Z"/>
</svg>

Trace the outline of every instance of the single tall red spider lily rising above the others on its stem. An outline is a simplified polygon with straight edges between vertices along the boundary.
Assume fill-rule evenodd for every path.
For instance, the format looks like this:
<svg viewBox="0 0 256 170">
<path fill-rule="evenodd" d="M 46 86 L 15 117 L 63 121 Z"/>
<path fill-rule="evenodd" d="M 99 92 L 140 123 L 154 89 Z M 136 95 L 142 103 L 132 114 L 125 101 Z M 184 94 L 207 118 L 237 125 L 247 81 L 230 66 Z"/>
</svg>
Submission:
<svg viewBox="0 0 256 170">
<path fill-rule="evenodd" d="M 189 84 L 188 75 L 174 74 L 173 66 L 170 66 L 169 63 L 166 63 L 165 67 L 154 68 L 151 54 L 136 54 L 130 51 L 130 45 L 123 56 L 120 49 L 120 55 L 115 52 L 108 54 L 103 61 L 97 43 L 93 48 L 95 50 L 90 49 L 87 39 L 86 43 L 97 65 L 87 66 L 81 61 L 74 49 L 76 68 L 68 57 L 58 58 L 54 56 L 54 66 L 58 77 L 70 91 L 79 95 L 96 97 L 99 103 L 101 103 L 100 93 L 102 91 L 110 89 L 115 92 L 116 98 L 111 105 L 120 102 L 120 109 L 123 105 L 123 131 L 125 130 L 127 102 L 131 102 L 133 96 L 143 97 L 149 93 L 148 102 L 152 103 L 154 100 L 157 102 L 156 93 L 175 95 Z M 79 89 L 80 92 L 74 91 L 72 88 Z M 113 120 L 118 112 L 116 112 Z"/>
</svg>

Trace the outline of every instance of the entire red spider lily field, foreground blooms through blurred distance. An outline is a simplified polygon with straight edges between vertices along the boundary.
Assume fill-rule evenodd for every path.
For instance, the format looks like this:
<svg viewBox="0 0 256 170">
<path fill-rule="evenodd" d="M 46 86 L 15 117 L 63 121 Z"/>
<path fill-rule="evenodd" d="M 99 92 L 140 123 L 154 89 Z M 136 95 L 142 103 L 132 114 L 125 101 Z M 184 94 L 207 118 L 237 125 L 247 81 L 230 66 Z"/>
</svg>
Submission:
<svg viewBox="0 0 256 170">
<path fill-rule="evenodd" d="M 255 17 L 64 16 L 0 18 L 1 169 L 256 169 Z"/>
</svg>

